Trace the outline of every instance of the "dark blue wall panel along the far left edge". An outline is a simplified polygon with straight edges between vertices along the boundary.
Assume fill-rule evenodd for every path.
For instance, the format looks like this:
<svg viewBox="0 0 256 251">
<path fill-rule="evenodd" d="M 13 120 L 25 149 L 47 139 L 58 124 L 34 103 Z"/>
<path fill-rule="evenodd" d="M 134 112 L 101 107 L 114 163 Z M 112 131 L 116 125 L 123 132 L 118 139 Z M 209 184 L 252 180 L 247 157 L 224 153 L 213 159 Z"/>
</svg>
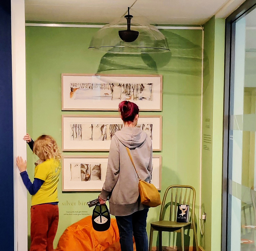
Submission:
<svg viewBox="0 0 256 251">
<path fill-rule="evenodd" d="M 11 0 L 2 0 L 0 1 L 0 250 L 14 250 L 13 207 Z"/>
</svg>

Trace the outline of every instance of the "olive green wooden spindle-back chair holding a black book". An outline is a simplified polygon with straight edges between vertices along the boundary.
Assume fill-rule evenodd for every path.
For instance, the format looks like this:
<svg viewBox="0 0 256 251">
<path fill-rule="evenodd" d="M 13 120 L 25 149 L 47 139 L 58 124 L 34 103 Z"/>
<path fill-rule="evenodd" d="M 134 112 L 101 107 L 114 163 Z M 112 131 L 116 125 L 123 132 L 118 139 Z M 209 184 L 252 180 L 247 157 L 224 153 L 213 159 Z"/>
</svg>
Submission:
<svg viewBox="0 0 256 251">
<path fill-rule="evenodd" d="M 166 203 L 166 197 L 168 192 L 171 193 L 171 201 Z M 176 222 L 177 218 L 177 207 L 179 204 L 190 205 L 190 197 L 192 193 L 192 207 L 190 207 L 189 222 Z M 196 244 L 196 250 L 198 249 L 197 231 L 195 224 L 195 201 L 196 201 L 196 191 L 195 188 L 191 186 L 184 185 L 173 185 L 169 186 L 164 194 L 162 201 L 161 211 L 159 221 L 151 223 L 150 227 L 150 237 L 149 237 L 149 251 L 152 250 L 152 240 L 153 232 L 159 231 L 159 251 L 162 251 L 162 232 L 180 232 L 181 233 L 181 246 L 182 251 L 184 251 L 184 228 L 193 229 L 194 240 Z M 170 206 L 169 220 L 164 220 L 167 208 Z"/>
</svg>

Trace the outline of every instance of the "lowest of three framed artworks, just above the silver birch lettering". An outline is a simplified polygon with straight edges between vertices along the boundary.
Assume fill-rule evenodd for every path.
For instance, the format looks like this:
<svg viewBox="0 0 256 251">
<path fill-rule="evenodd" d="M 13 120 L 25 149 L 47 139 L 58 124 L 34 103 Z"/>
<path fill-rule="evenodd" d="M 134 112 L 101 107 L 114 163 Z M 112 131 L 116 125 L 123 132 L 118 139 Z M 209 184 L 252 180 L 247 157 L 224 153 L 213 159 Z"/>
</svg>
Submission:
<svg viewBox="0 0 256 251">
<path fill-rule="evenodd" d="M 62 159 L 62 191 L 101 191 L 108 156 L 64 156 Z M 152 183 L 161 190 L 162 157 L 153 156 Z"/>
</svg>

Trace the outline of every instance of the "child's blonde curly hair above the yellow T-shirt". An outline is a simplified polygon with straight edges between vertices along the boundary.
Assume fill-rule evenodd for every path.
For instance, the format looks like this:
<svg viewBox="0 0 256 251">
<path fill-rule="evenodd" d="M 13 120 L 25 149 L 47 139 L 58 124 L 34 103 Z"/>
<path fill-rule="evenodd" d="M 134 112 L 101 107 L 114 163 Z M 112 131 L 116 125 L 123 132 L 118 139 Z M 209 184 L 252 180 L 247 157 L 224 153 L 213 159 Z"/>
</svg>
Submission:
<svg viewBox="0 0 256 251">
<path fill-rule="evenodd" d="M 49 135 L 41 135 L 34 142 L 33 152 L 40 159 L 61 159 L 61 151 L 55 139 Z"/>
</svg>

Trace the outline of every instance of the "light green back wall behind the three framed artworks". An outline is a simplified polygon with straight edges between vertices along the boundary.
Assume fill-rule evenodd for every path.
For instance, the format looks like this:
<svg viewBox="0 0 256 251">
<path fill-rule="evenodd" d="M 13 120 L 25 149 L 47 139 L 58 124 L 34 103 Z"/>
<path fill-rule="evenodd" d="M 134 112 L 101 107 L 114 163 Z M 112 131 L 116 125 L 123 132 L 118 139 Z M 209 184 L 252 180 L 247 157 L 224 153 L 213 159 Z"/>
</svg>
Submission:
<svg viewBox="0 0 256 251">
<path fill-rule="evenodd" d="M 196 217 L 199 201 L 201 45 L 200 30 L 161 30 L 167 37 L 170 53 L 159 55 L 111 55 L 88 50 L 97 28 L 26 27 L 27 57 L 27 132 L 35 139 L 50 134 L 61 145 L 61 114 L 103 114 L 102 112 L 62 112 L 61 73 L 162 74 L 163 111 L 141 114 L 163 116 L 162 191 L 172 184 L 195 187 Z M 104 114 L 117 114 L 108 112 Z M 81 153 L 65 152 L 65 155 Z M 85 152 L 82 154 L 102 154 Z M 33 177 L 35 156 L 28 150 L 28 173 Z M 67 226 L 90 215 L 87 202 L 99 193 L 62 193 L 58 186 L 60 222 L 54 241 Z M 30 196 L 28 195 L 28 219 Z M 69 205 L 65 205 L 69 203 Z M 73 203 L 73 205 L 71 205 Z M 76 203 L 74 205 L 74 203 Z M 148 223 L 159 218 L 158 208 L 151 208 Z M 82 211 L 83 215 L 65 215 Z M 30 222 L 28 222 L 30 225 Z M 149 233 L 149 224 L 147 227 Z M 198 229 L 199 233 L 199 229 Z M 154 244 L 156 244 L 156 232 Z M 198 235 L 199 236 L 199 235 Z M 186 246 L 192 245 L 192 230 Z M 168 244 L 168 234 L 163 235 Z M 180 238 L 178 238 L 180 239 Z"/>
</svg>

